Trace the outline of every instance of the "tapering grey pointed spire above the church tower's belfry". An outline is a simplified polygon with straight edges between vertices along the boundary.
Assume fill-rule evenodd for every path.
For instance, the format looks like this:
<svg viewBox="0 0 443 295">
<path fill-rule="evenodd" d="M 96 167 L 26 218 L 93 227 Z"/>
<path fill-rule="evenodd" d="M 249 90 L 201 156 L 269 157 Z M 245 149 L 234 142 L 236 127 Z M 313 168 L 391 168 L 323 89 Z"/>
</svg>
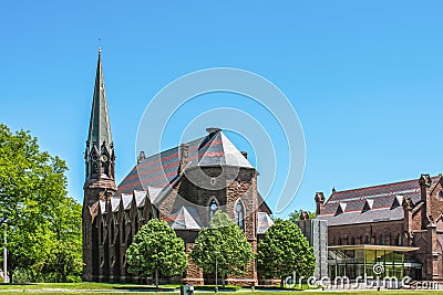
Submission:
<svg viewBox="0 0 443 295">
<path fill-rule="evenodd" d="M 87 144 L 100 148 L 106 141 L 107 148 L 112 144 L 110 115 L 107 113 L 106 91 L 104 87 L 104 75 L 102 70 L 102 49 L 99 49 L 99 61 L 95 75 L 94 96 L 92 102 L 90 131 Z"/>
</svg>

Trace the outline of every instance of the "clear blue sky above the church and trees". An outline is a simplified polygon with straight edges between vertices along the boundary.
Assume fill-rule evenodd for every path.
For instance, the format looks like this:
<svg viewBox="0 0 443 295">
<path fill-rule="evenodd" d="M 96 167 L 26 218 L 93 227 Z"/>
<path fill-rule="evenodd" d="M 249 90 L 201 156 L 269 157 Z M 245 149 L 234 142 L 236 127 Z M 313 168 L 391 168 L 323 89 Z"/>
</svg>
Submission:
<svg viewBox="0 0 443 295">
<path fill-rule="evenodd" d="M 41 149 L 64 159 L 69 194 L 82 201 L 97 48 L 103 49 L 117 182 L 135 164 L 138 124 L 162 88 L 195 71 L 241 69 L 286 95 L 305 135 L 301 185 L 276 215 L 313 211 L 316 191 L 329 196 L 332 187 L 360 188 L 443 170 L 442 11 L 437 0 L 4 0 L 0 123 L 30 130 Z M 267 129 L 276 161 L 288 164 L 270 112 L 231 93 L 190 101 L 175 114 L 162 147 L 177 144 L 184 126 L 215 107 L 248 113 Z M 226 123 L 245 125 L 230 116 Z M 144 129 L 151 131 L 156 130 Z M 202 128 L 199 136 L 205 134 Z M 239 149 L 258 150 L 248 136 L 227 135 Z M 254 137 L 250 130 L 247 135 Z M 261 145 L 260 138 L 254 140 Z M 260 178 L 269 183 L 275 167 L 259 165 L 260 157 L 268 155 L 251 161 L 259 183 Z M 286 170 L 279 169 L 272 181 L 281 185 Z M 271 208 L 280 197 L 271 191 Z"/>
</svg>

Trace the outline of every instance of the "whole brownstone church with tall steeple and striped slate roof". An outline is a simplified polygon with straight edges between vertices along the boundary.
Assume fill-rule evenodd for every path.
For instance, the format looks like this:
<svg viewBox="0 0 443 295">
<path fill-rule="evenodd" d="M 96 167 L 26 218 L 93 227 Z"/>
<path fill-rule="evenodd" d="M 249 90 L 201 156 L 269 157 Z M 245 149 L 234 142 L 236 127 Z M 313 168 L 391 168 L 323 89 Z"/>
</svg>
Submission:
<svg viewBox="0 0 443 295">
<path fill-rule="evenodd" d="M 138 282 L 127 272 L 126 249 L 151 219 L 165 220 L 185 242 L 189 254 L 202 228 L 216 210 L 226 212 L 257 250 L 257 239 L 272 224 L 271 211 L 257 191 L 257 170 L 218 128 L 190 143 L 146 157 L 116 186 L 116 157 L 107 113 L 102 56 L 99 61 L 84 152 L 83 280 Z M 177 281 L 213 283 L 189 259 Z M 164 280 L 173 280 L 164 277 Z M 165 281 L 165 282 L 166 282 Z M 228 284 L 256 285 L 253 261 Z"/>
</svg>

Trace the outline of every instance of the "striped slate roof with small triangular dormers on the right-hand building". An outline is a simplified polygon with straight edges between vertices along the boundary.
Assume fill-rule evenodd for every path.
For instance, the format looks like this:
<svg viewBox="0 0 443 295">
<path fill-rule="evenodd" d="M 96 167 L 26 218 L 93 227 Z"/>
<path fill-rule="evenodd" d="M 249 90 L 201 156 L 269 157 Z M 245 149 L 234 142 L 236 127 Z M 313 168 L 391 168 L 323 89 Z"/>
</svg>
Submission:
<svg viewBox="0 0 443 295">
<path fill-rule="evenodd" d="M 431 179 L 434 182 L 437 177 Z M 413 206 L 421 201 L 419 179 L 334 191 L 317 218 L 328 221 L 328 225 L 402 220 L 402 201 L 408 198 Z"/>
</svg>

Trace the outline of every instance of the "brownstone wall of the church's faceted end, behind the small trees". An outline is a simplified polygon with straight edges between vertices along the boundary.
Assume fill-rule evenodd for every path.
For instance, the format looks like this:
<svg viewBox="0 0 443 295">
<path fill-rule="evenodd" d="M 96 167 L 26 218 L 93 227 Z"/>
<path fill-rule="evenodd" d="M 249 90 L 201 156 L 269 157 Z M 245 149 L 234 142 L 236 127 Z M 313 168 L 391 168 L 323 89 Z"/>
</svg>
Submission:
<svg viewBox="0 0 443 295">
<path fill-rule="evenodd" d="M 203 175 L 204 173 L 204 175 Z M 235 220 L 235 206 L 237 201 L 243 202 L 245 209 L 245 235 L 251 244 L 254 253 L 257 251 L 257 210 L 258 210 L 258 192 L 257 177 L 254 169 L 231 169 L 225 168 L 224 178 L 218 178 L 218 183 L 215 183 L 214 190 L 204 189 L 210 187 L 204 183 L 209 178 L 220 176 L 220 168 L 209 167 L 187 170 L 184 177 L 172 190 L 172 192 L 162 200 L 159 206 L 161 220 L 168 218 L 178 211 L 182 207 L 194 207 L 204 226 L 209 225 L 209 202 L 215 198 L 219 209 L 225 211 L 233 220 Z M 192 179 L 190 180 L 188 180 Z M 178 196 L 183 197 L 179 198 Z M 186 246 L 193 245 L 197 233 L 192 231 L 176 231 L 184 239 Z M 203 273 L 189 259 L 189 270 L 186 273 L 185 282 L 203 283 Z M 190 275 L 190 276 L 189 276 Z M 197 276 L 198 275 L 198 276 Z M 197 276 L 197 277 L 195 277 Z M 257 284 L 256 263 L 253 261 L 246 273 L 241 276 L 231 276 L 227 282 L 238 285 L 255 285 Z"/>
</svg>

